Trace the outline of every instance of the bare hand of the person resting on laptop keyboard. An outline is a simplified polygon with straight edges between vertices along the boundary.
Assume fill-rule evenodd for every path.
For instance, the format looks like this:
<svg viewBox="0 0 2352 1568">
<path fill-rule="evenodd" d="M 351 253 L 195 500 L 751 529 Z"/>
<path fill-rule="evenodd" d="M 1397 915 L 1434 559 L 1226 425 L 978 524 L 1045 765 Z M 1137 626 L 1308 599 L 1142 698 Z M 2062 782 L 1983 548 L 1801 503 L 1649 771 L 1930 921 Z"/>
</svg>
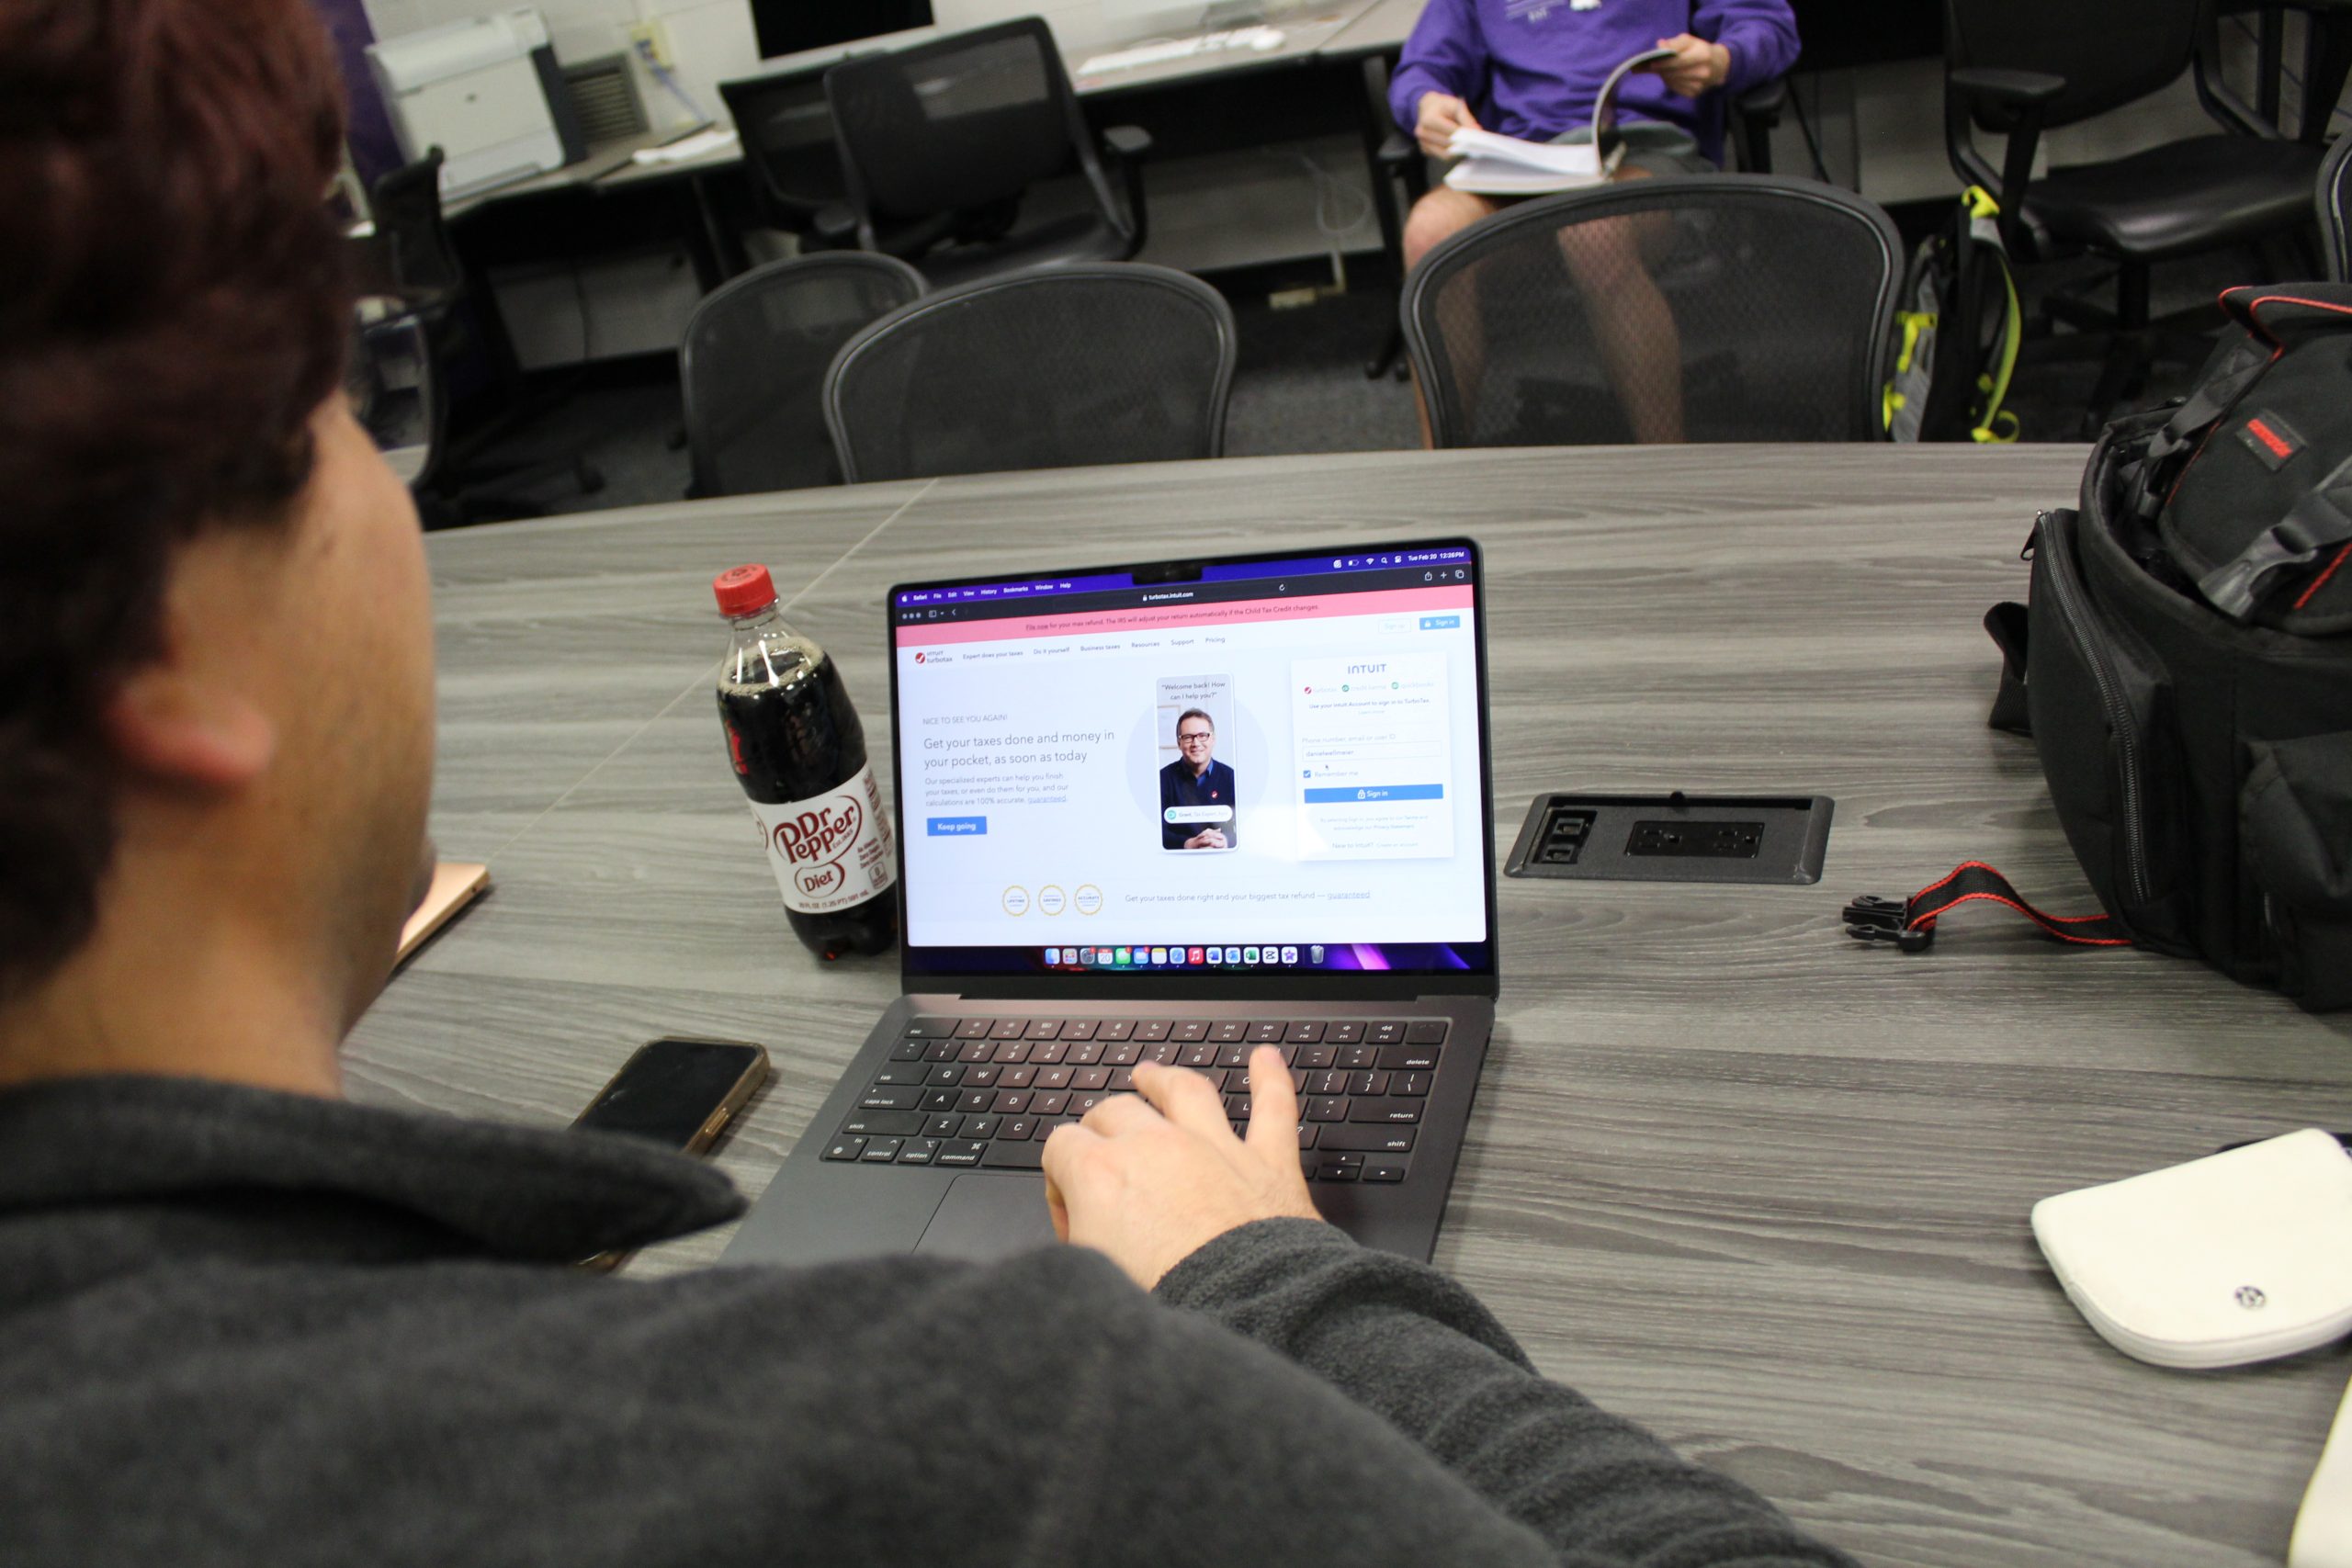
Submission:
<svg viewBox="0 0 2352 1568">
<path fill-rule="evenodd" d="M 1298 1173 L 1298 1095 L 1282 1051 L 1249 1056 L 1249 1138 L 1188 1067 L 1136 1067 L 1112 1095 L 1044 1145 L 1054 1234 L 1108 1253 L 1150 1291 L 1160 1276 L 1251 1220 L 1317 1220 Z"/>
</svg>

